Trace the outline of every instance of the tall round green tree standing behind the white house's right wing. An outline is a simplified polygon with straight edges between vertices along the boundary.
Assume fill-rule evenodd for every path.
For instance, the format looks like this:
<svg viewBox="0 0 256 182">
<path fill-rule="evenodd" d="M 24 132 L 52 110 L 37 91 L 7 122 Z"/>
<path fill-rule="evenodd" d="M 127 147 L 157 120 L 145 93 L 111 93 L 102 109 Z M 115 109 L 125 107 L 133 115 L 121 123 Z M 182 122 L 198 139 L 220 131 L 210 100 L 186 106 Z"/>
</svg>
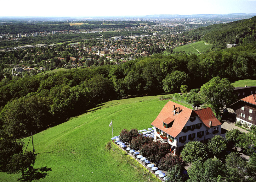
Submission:
<svg viewBox="0 0 256 182">
<path fill-rule="evenodd" d="M 234 99 L 233 85 L 227 78 L 214 77 L 200 91 L 204 101 L 213 106 L 217 116 L 219 109 L 231 104 Z"/>
</svg>

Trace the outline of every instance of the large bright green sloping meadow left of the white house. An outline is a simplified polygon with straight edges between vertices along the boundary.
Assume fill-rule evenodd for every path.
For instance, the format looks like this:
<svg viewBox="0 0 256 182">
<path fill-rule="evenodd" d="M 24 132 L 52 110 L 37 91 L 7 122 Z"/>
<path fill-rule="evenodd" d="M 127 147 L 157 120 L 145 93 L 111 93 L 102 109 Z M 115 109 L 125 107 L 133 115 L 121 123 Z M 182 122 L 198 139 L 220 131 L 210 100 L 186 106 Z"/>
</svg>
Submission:
<svg viewBox="0 0 256 182">
<path fill-rule="evenodd" d="M 33 136 L 35 169 L 50 168 L 34 181 L 148 181 L 136 168 L 105 149 L 113 133 L 123 128 L 146 129 L 168 102 L 157 96 L 113 100 Z M 28 143 L 29 138 L 24 140 Z M 32 151 L 29 143 L 28 151 Z M 41 176 L 44 176 L 41 175 Z M 21 174 L 0 173 L 0 181 L 17 181 Z M 35 175 L 34 177 L 36 177 Z M 31 179 L 30 179 L 31 180 Z"/>
</svg>

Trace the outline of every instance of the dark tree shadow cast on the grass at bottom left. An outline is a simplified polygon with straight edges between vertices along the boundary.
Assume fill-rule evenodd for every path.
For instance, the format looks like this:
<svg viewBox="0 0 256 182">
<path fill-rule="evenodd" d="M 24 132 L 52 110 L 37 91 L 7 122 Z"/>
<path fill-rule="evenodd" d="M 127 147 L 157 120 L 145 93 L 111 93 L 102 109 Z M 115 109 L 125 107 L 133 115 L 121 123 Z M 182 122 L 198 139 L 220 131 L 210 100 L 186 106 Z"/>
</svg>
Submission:
<svg viewBox="0 0 256 182">
<path fill-rule="evenodd" d="M 51 170 L 51 168 L 46 166 L 37 169 L 31 167 L 28 171 L 24 172 L 24 176 L 21 176 L 21 178 L 19 178 L 17 181 L 33 181 L 43 179 L 48 176 L 46 172 Z"/>
</svg>

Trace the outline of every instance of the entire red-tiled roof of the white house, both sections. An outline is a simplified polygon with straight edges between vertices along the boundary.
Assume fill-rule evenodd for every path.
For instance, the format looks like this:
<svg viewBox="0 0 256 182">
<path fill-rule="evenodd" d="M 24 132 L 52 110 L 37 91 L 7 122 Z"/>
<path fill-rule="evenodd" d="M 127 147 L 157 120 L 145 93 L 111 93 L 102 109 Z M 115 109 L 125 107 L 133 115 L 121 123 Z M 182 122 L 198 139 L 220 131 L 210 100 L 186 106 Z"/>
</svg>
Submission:
<svg viewBox="0 0 256 182">
<path fill-rule="evenodd" d="M 211 108 L 192 110 L 173 101 L 169 101 L 165 104 L 151 125 L 159 128 L 168 135 L 176 137 L 182 131 L 189 118 L 195 116 L 199 116 L 204 125 L 208 128 L 221 125 Z M 212 121 L 211 126 L 209 125 L 210 120 Z M 163 123 L 170 124 L 171 122 L 173 122 L 171 127 L 164 128 Z"/>
</svg>

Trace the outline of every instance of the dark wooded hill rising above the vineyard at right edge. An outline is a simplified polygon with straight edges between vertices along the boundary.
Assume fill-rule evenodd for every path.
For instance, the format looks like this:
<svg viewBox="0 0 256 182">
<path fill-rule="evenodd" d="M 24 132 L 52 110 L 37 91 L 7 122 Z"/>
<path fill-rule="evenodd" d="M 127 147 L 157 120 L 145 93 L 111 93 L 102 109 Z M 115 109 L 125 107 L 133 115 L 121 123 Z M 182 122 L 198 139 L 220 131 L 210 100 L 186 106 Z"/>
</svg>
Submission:
<svg viewBox="0 0 256 182">
<path fill-rule="evenodd" d="M 226 44 L 247 44 L 256 40 L 256 16 L 230 22 L 228 24 L 214 24 L 184 32 L 183 35 L 194 40 L 204 40 L 216 47 L 225 48 Z"/>
</svg>

